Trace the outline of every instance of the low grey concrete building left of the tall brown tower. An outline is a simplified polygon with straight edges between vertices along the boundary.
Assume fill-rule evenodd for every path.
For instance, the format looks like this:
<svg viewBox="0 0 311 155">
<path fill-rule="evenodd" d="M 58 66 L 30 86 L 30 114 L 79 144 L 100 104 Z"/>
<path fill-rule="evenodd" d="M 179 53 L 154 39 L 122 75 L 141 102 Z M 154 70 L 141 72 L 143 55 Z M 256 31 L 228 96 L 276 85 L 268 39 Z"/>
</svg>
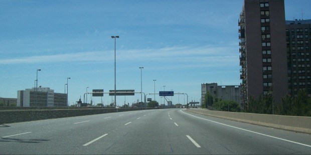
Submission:
<svg viewBox="0 0 311 155">
<path fill-rule="evenodd" d="M 240 99 L 241 85 L 218 85 L 217 83 L 201 84 L 201 103 L 204 103 L 204 97 L 209 92 L 214 98 L 223 100 L 234 100 L 242 103 Z"/>
</svg>

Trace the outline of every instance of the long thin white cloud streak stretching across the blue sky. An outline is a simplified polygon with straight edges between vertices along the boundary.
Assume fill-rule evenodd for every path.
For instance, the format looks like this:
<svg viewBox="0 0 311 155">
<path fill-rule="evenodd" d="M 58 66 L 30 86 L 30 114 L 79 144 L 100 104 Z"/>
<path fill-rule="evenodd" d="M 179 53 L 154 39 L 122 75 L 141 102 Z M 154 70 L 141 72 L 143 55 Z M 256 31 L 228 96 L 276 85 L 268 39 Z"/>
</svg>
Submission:
<svg viewBox="0 0 311 155">
<path fill-rule="evenodd" d="M 174 62 L 228 62 L 238 60 L 238 53 L 228 47 L 190 47 L 190 46 L 173 46 L 159 49 L 129 49 L 118 50 L 118 60 L 131 61 L 148 60 L 148 61 L 174 61 Z M 113 51 L 86 51 L 76 53 L 65 53 L 55 55 L 35 55 L 27 57 L 16 57 L 0 59 L 0 64 L 19 64 L 19 63 L 46 63 L 46 62 L 74 62 L 74 61 L 112 61 L 114 59 Z M 189 65 L 189 64 L 187 64 Z M 198 65 L 198 64 L 195 64 Z"/>
</svg>

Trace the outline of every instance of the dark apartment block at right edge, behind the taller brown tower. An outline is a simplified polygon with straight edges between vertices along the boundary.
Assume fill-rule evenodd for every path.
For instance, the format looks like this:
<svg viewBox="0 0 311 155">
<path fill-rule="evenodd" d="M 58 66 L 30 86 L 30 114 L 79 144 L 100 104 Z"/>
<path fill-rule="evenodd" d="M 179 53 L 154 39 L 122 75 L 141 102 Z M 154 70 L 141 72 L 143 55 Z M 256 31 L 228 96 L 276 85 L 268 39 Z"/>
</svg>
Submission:
<svg viewBox="0 0 311 155">
<path fill-rule="evenodd" d="M 311 20 L 286 20 L 288 92 L 311 96 Z"/>
</svg>

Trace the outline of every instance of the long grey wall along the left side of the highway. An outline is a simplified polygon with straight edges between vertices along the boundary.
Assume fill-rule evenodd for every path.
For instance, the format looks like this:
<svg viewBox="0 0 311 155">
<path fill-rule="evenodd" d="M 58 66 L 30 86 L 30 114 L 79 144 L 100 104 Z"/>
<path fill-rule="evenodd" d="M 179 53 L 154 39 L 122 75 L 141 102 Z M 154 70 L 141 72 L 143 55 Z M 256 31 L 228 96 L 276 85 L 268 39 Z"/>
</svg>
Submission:
<svg viewBox="0 0 311 155">
<path fill-rule="evenodd" d="M 80 108 L 0 110 L 0 124 L 153 108 Z"/>
</svg>

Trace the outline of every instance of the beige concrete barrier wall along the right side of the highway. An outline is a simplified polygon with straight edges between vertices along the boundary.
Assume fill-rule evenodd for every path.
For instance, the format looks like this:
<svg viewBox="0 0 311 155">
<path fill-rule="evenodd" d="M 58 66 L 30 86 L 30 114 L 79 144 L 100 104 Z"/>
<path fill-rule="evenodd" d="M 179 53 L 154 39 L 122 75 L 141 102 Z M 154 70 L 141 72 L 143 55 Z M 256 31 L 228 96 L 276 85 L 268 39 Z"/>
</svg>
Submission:
<svg viewBox="0 0 311 155">
<path fill-rule="evenodd" d="M 202 108 L 188 108 L 187 110 L 204 115 L 269 126 L 273 128 L 280 128 L 309 134 L 311 133 L 311 117 L 212 111 Z"/>
</svg>

